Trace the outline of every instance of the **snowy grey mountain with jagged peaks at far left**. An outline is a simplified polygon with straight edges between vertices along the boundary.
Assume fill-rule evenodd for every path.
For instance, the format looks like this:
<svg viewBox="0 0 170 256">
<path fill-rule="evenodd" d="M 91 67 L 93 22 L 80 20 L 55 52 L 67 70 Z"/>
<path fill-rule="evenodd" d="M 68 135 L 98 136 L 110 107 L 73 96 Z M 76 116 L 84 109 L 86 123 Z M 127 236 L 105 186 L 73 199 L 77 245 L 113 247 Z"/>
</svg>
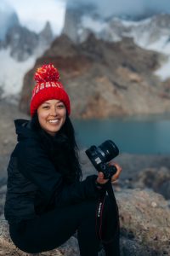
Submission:
<svg viewBox="0 0 170 256">
<path fill-rule="evenodd" d="M 24 75 L 53 39 L 49 22 L 42 32 L 31 32 L 20 25 L 14 9 L 0 3 L 0 98 L 20 97 Z"/>
</svg>

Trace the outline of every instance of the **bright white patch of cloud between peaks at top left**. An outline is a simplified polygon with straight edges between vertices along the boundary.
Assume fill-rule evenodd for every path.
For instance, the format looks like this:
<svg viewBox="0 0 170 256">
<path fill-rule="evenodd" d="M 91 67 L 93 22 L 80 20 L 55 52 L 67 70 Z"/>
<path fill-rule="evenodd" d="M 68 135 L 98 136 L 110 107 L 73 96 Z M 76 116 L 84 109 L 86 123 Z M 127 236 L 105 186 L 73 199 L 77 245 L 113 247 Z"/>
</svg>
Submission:
<svg viewBox="0 0 170 256">
<path fill-rule="evenodd" d="M 54 34 L 59 33 L 65 19 L 65 1 L 62 0 L 7 0 L 17 12 L 20 23 L 40 32 L 50 21 Z M 27 2 L 27 3 L 26 3 Z"/>
</svg>

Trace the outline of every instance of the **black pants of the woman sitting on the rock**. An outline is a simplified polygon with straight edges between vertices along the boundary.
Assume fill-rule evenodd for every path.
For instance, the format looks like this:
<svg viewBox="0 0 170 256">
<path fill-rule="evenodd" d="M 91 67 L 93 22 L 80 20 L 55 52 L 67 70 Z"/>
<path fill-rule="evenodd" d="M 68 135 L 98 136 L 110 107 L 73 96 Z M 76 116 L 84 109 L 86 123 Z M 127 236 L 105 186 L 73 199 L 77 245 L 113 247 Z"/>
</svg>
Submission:
<svg viewBox="0 0 170 256">
<path fill-rule="evenodd" d="M 108 199 L 107 199 L 108 201 Z M 69 207 L 56 208 L 40 217 L 10 224 L 9 232 L 16 247 L 26 253 L 40 253 L 52 250 L 67 241 L 77 230 L 81 256 L 96 256 L 99 239 L 95 230 L 97 201 L 84 201 Z M 113 222 L 115 212 L 110 211 Z M 113 242 L 105 245 L 107 256 L 118 256 L 118 234 Z"/>
</svg>

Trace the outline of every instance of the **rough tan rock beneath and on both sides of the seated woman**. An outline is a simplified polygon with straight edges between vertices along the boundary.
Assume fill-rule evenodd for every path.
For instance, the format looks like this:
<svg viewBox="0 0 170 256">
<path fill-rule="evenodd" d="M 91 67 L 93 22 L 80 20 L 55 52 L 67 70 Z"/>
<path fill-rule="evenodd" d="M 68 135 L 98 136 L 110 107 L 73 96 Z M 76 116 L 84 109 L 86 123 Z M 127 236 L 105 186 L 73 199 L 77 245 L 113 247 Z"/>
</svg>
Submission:
<svg viewBox="0 0 170 256">
<path fill-rule="evenodd" d="M 117 192 L 116 199 L 121 224 L 121 256 L 170 255 L 170 209 L 167 201 L 155 192 L 139 189 Z M 0 253 L 29 255 L 14 246 L 4 219 L 0 220 L 0 234 Z M 38 255 L 78 256 L 77 238 L 72 236 L 61 247 Z M 105 256 L 103 250 L 99 256 Z"/>
</svg>

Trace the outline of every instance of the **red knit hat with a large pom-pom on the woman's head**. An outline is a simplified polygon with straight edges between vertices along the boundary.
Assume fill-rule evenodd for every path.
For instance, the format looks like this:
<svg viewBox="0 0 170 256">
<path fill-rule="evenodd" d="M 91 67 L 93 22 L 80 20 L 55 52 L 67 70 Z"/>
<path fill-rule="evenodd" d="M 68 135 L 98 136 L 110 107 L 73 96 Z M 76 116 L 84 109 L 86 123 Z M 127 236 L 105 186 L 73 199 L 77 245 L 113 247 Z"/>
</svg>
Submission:
<svg viewBox="0 0 170 256">
<path fill-rule="evenodd" d="M 59 72 L 52 64 L 43 65 L 37 69 L 34 79 L 36 86 L 31 97 L 31 116 L 36 112 L 42 102 L 59 100 L 65 104 L 68 114 L 71 113 L 71 104 L 63 84 L 59 82 Z"/>
</svg>

